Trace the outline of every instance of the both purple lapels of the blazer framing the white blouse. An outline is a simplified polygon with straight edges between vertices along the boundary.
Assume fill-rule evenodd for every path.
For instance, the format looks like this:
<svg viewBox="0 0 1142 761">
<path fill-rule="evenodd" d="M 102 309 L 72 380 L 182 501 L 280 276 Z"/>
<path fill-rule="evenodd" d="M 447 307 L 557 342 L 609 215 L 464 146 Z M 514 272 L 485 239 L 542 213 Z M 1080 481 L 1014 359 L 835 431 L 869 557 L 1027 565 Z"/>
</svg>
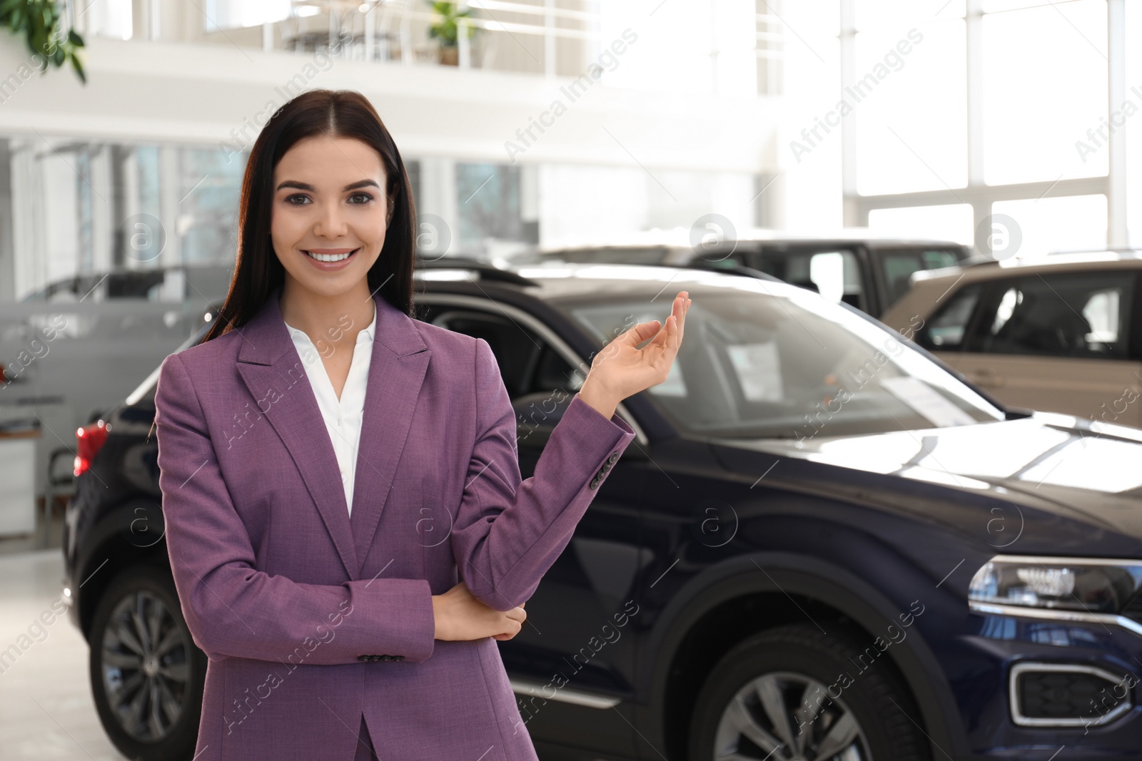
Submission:
<svg viewBox="0 0 1142 761">
<path fill-rule="evenodd" d="M 281 286 L 274 289 L 250 322 L 235 329 L 242 335 L 238 372 L 257 399 L 258 411 L 289 450 L 341 564 L 349 577 L 356 578 L 388 500 L 432 351 L 412 318 L 375 293 L 377 324 L 351 521 L 337 454 L 305 365 L 282 318 L 280 297 Z"/>
</svg>

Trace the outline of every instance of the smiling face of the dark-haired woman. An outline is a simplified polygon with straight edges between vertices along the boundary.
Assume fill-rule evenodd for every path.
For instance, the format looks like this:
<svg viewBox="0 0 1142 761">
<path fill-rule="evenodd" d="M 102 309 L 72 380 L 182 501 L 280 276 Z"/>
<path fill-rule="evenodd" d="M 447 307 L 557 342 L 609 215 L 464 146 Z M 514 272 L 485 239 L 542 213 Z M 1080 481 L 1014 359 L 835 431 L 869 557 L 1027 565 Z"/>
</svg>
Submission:
<svg viewBox="0 0 1142 761">
<path fill-rule="evenodd" d="M 380 154 L 360 140 L 321 136 L 293 144 L 274 169 L 270 222 L 287 277 L 322 296 L 364 280 L 385 244 L 385 180 Z"/>
</svg>

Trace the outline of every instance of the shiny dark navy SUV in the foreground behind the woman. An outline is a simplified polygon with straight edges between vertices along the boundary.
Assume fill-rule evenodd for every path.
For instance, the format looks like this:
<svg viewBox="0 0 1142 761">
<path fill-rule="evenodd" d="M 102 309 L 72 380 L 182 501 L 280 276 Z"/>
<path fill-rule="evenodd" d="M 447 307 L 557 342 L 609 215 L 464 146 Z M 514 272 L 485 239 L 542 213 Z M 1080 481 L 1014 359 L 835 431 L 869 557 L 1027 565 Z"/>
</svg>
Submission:
<svg viewBox="0 0 1142 761">
<path fill-rule="evenodd" d="M 619 405 L 636 438 L 499 642 L 544 759 L 1140 756 L 1142 431 L 1004 410 L 771 277 L 437 262 L 418 282 L 420 319 L 494 350 L 524 477 L 593 354 L 693 300 L 669 377 Z M 204 659 L 164 551 L 153 382 L 97 424 L 65 599 L 115 744 L 177 759 Z"/>
</svg>

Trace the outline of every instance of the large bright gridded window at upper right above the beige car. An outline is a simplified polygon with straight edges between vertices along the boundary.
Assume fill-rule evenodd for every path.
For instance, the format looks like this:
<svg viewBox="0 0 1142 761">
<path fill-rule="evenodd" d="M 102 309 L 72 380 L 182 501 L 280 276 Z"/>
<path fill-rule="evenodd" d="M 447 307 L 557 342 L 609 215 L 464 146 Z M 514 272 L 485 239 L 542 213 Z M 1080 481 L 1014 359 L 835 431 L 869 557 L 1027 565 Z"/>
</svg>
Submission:
<svg viewBox="0 0 1142 761">
<path fill-rule="evenodd" d="M 1128 243 L 1142 219 L 1126 203 L 1142 187 L 1125 149 L 1142 139 L 1129 3 L 838 2 L 846 225 L 996 259 Z"/>
</svg>

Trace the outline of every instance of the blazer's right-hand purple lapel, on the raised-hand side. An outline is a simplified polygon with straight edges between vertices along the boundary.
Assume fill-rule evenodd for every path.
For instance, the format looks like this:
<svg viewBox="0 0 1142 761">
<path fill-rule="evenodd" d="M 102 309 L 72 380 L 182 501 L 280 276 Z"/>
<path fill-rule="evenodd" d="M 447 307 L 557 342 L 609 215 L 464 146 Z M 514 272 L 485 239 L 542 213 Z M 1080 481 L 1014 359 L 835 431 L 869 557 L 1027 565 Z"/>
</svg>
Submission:
<svg viewBox="0 0 1142 761">
<path fill-rule="evenodd" d="M 379 293 L 353 481 L 352 533 L 364 561 L 388 502 L 432 350 L 411 317 Z M 344 501 L 344 500 L 343 500 Z M 410 518 L 411 520 L 412 518 Z"/>
</svg>

